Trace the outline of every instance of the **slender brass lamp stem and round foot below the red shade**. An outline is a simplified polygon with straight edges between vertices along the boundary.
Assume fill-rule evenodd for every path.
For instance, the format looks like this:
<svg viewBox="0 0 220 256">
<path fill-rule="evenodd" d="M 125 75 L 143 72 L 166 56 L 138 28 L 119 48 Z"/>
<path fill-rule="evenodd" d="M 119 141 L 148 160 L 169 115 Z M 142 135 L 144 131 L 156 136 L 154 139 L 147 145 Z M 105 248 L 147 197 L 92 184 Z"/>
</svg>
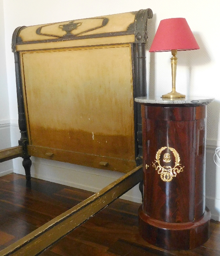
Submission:
<svg viewBox="0 0 220 256">
<path fill-rule="evenodd" d="M 172 91 L 168 94 L 162 95 L 162 98 L 185 98 L 186 95 L 181 94 L 176 91 L 176 68 L 177 68 L 177 50 L 171 50 L 172 58 L 171 58 L 171 69 L 172 69 Z"/>
</svg>

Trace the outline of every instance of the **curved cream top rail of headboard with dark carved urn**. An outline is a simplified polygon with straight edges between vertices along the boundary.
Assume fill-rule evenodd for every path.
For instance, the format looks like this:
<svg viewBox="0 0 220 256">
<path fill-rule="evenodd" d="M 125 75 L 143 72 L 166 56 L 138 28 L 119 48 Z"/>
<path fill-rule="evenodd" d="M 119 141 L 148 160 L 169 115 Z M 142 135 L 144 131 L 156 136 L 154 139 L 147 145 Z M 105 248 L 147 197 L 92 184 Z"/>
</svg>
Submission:
<svg viewBox="0 0 220 256">
<path fill-rule="evenodd" d="M 117 37 L 115 42 L 110 40 L 110 44 L 146 43 L 147 19 L 152 17 L 153 12 L 148 8 L 122 14 L 112 14 L 28 27 L 22 26 L 15 29 L 13 33 L 12 52 L 36 50 L 36 45 L 34 46 L 34 44 L 38 43 L 55 43 L 59 41 L 97 39 L 103 37 Z M 124 39 L 123 36 L 127 36 L 127 39 Z M 108 43 L 106 40 L 100 42 L 100 44 Z M 29 46 L 25 47 L 27 44 L 29 44 Z M 84 40 L 80 46 L 88 44 L 91 43 L 88 43 L 88 40 Z M 37 49 L 39 48 L 37 47 Z"/>
</svg>

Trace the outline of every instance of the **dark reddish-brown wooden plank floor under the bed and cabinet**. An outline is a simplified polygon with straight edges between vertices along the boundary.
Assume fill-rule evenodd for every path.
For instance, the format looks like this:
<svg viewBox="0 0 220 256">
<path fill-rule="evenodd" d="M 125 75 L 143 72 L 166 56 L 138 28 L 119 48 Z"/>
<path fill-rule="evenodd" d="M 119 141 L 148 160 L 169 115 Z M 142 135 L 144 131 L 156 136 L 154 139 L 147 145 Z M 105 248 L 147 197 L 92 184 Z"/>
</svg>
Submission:
<svg viewBox="0 0 220 256">
<path fill-rule="evenodd" d="M 91 196 L 92 192 L 10 174 L 0 177 L 0 250 Z M 116 200 L 41 256 L 220 256 L 220 223 L 211 222 L 211 237 L 189 251 L 166 251 L 138 233 L 139 204 Z"/>
</svg>

